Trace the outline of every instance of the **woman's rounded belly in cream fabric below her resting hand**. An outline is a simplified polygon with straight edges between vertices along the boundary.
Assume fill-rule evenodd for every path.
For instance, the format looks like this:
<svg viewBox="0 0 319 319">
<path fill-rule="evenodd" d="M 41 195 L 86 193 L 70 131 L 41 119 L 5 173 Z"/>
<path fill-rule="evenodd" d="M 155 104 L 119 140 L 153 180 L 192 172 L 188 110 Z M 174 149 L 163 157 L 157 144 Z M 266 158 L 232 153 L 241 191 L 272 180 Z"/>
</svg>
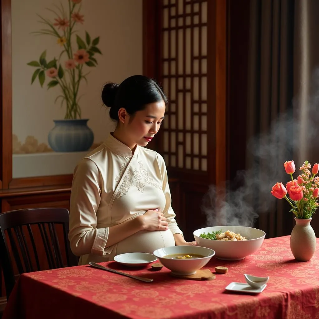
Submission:
<svg viewBox="0 0 319 319">
<path fill-rule="evenodd" d="M 156 249 L 169 246 L 175 246 L 174 236 L 169 229 L 164 231 L 142 230 L 117 243 L 115 254 L 133 252 L 152 254 Z"/>
</svg>

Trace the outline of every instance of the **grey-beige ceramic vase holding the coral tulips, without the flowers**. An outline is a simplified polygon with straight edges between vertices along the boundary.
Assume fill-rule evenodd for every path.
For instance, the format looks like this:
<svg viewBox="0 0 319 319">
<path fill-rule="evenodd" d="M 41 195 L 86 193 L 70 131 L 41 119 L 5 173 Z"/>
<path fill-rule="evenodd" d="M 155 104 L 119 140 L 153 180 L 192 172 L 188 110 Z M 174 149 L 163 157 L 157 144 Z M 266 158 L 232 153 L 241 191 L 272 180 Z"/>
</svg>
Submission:
<svg viewBox="0 0 319 319">
<path fill-rule="evenodd" d="M 296 218 L 296 225 L 290 236 L 290 249 L 296 260 L 308 261 L 312 258 L 316 249 L 315 232 L 310 225 L 312 218 Z"/>
</svg>

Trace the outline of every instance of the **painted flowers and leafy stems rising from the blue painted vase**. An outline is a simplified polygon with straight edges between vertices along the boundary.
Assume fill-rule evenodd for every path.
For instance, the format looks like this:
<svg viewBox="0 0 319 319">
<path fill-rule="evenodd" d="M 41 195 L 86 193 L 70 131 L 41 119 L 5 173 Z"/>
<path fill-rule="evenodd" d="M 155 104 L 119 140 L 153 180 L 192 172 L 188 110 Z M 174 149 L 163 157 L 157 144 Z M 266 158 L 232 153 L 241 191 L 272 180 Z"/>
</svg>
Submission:
<svg viewBox="0 0 319 319">
<path fill-rule="evenodd" d="M 82 80 L 87 82 L 86 68 L 95 67 L 98 64 L 96 55 L 102 54 L 97 47 L 100 37 L 91 36 L 85 31 L 85 37 L 81 37 L 75 29 L 76 25 L 84 24 L 84 15 L 80 13 L 82 0 L 63 0 L 65 6 L 54 4 L 54 8 L 48 8 L 54 16 L 44 18 L 38 15 L 40 23 L 45 26 L 35 35 L 45 35 L 55 38 L 55 43 L 61 48 L 59 56 L 48 59 L 47 50 L 44 50 L 38 60 L 27 63 L 35 68 L 31 77 L 31 84 L 39 79 L 43 87 L 46 77 L 50 78 L 49 88 L 59 87 L 61 92 L 57 94 L 55 103 L 61 102 L 66 107 L 65 119 L 81 118 L 79 105 L 79 86 Z M 76 43 L 76 47 L 73 44 Z"/>
</svg>

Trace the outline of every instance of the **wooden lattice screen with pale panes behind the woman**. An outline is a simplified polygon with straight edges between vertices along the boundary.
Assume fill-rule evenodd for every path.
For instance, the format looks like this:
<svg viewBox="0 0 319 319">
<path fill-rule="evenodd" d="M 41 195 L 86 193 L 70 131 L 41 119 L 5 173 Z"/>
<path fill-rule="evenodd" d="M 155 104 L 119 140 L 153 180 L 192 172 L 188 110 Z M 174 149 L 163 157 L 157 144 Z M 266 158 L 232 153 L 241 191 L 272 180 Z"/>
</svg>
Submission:
<svg viewBox="0 0 319 319">
<path fill-rule="evenodd" d="M 168 167 L 207 171 L 207 1 L 163 0 L 160 78 Z"/>
</svg>

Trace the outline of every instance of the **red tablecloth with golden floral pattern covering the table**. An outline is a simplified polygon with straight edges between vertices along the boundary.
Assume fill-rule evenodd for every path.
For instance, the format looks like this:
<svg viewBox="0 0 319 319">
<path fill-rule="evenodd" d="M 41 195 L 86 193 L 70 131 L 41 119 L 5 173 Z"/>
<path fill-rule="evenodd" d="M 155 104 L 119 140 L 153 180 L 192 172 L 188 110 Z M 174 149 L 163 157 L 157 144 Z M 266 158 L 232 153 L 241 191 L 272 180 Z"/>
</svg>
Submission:
<svg viewBox="0 0 319 319">
<path fill-rule="evenodd" d="M 319 239 L 317 239 L 317 244 Z M 174 278 L 163 268 L 127 269 L 153 278 L 143 283 L 118 274 L 77 266 L 20 276 L 3 319 L 13 318 L 291 318 L 319 319 L 318 245 L 309 262 L 296 262 L 289 236 L 267 239 L 255 255 L 236 262 L 213 257 L 207 267 L 229 267 L 212 281 Z M 228 293 L 225 287 L 245 282 L 243 273 L 270 276 L 259 295 Z"/>
</svg>

